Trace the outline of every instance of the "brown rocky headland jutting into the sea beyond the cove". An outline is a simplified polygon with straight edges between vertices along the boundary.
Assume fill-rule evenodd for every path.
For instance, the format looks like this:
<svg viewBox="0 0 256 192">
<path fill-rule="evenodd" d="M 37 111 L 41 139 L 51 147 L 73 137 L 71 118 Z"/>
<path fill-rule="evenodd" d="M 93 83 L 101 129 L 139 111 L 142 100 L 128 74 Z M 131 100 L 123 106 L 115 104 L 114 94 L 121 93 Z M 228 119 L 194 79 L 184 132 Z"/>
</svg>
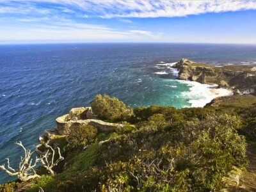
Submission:
<svg viewBox="0 0 256 192">
<path fill-rule="evenodd" d="M 179 69 L 178 79 L 214 83 L 223 88 L 230 88 L 239 94 L 256 94 L 256 67 L 214 67 L 185 58 L 176 63 L 174 67 Z"/>
</svg>

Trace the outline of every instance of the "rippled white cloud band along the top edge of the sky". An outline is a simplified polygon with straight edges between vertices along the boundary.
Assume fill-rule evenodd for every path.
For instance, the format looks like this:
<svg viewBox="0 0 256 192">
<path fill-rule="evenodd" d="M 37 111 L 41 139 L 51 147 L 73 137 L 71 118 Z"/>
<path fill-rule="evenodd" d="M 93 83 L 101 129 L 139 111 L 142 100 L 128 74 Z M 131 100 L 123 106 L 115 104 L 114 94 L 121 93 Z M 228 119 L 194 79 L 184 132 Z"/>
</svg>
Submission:
<svg viewBox="0 0 256 192">
<path fill-rule="evenodd" d="M 81 10 L 86 15 L 95 17 L 184 17 L 202 13 L 235 12 L 239 10 L 256 10 L 255 0 L 1 0 L 6 4 L 53 3 L 67 6 L 63 12 L 73 13 L 74 9 Z M 20 6 L 20 5 L 19 5 Z M 21 9 L 12 6 L 1 6 L 0 13 L 6 12 L 45 12 L 46 8 L 37 10 L 35 7 L 23 6 Z"/>
</svg>

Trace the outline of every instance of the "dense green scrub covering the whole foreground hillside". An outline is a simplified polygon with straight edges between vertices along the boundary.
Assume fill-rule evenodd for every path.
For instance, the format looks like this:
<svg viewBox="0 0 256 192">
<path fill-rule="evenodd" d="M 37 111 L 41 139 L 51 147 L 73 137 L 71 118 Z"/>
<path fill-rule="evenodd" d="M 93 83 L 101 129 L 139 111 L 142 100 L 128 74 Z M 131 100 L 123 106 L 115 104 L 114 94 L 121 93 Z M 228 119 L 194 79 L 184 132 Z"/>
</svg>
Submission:
<svg viewBox="0 0 256 192">
<path fill-rule="evenodd" d="M 228 108 L 219 100 L 205 108 L 131 109 L 115 97 L 96 95 L 93 113 L 124 126 L 103 132 L 82 125 L 54 138 L 47 145 L 58 144 L 63 156 L 52 167 L 56 174 L 40 166 L 40 178 L 10 182 L 0 191 L 220 191 L 223 177 L 248 164 L 246 146 L 256 138 L 250 97 L 244 106 L 230 97 Z"/>
</svg>

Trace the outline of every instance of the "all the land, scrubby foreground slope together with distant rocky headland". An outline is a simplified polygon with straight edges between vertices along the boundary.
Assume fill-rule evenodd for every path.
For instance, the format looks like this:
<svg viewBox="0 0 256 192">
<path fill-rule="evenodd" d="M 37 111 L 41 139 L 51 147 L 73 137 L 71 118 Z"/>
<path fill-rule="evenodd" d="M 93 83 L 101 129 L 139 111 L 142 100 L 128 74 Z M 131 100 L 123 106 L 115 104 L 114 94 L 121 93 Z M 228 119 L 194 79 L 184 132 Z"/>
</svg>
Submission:
<svg viewBox="0 0 256 192">
<path fill-rule="evenodd" d="M 232 191 L 256 189 L 255 68 L 214 67 L 182 59 L 179 79 L 235 92 L 204 108 L 130 108 L 109 95 L 73 108 L 45 130 L 31 164 L 0 191 Z M 42 165 L 36 163 L 42 162 Z M 29 163 L 30 162 L 30 163 Z M 247 169 L 247 171 L 245 170 Z M 254 180 L 254 181 L 253 181 Z"/>
</svg>

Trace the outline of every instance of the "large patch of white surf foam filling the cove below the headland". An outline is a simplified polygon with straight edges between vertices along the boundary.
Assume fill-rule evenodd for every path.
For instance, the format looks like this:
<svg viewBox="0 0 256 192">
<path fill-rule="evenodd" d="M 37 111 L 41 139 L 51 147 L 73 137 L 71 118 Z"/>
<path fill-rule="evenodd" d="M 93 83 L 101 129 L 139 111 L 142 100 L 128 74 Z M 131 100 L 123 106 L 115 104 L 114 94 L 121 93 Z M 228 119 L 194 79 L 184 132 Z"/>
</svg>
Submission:
<svg viewBox="0 0 256 192">
<path fill-rule="evenodd" d="M 189 99 L 192 108 L 202 108 L 216 97 L 233 95 L 233 92 L 224 88 L 216 88 L 217 84 L 201 84 L 196 81 L 179 80 L 188 84 L 189 92 L 182 92 L 182 96 Z"/>
</svg>

